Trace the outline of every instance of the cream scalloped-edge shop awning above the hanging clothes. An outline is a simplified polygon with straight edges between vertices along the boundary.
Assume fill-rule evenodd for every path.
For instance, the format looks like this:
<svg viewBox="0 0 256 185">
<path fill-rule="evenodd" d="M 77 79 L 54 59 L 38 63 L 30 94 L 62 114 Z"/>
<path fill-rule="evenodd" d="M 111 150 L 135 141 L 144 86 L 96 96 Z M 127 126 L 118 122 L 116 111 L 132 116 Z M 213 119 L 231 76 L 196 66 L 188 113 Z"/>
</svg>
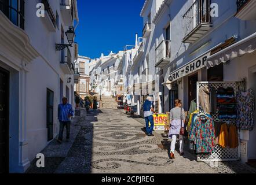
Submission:
<svg viewBox="0 0 256 185">
<path fill-rule="evenodd" d="M 246 53 L 253 53 L 256 50 L 256 32 L 239 42 L 218 51 L 207 59 L 207 69 L 241 57 Z"/>
</svg>

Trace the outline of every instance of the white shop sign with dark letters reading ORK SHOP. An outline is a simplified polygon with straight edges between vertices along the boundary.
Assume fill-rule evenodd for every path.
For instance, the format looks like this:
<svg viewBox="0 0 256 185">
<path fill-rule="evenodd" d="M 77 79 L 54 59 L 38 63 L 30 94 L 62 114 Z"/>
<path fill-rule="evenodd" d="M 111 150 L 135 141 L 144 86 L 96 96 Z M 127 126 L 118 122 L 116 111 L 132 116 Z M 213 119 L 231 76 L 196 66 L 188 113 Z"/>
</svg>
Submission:
<svg viewBox="0 0 256 185">
<path fill-rule="evenodd" d="M 192 72 L 198 71 L 199 69 L 206 67 L 207 58 L 209 56 L 210 56 L 210 52 L 205 54 L 202 57 L 197 58 L 196 60 L 193 60 L 192 62 L 189 62 L 185 66 L 182 66 L 180 69 L 177 69 L 176 71 L 172 72 L 168 80 L 170 82 L 174 82 L 175 80 L 178 80 L 181 77 L 184 77 L 186 75 L 189 75 Z"/>
</svg>

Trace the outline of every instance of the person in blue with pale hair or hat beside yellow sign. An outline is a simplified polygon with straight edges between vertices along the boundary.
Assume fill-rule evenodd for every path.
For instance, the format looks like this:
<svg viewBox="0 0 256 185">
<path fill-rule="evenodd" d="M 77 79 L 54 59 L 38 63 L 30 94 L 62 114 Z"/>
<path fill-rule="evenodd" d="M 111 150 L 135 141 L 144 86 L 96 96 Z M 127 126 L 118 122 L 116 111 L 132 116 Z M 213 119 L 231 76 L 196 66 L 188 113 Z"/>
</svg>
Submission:
<svg viewBox="0 0 256 185">
<path fill-rule="evenodd" d="M 153 109 L 152 103 L 151 103 L 151 97 L 147 97 L 146 101 L 143 105 L 143 111 L 144 111 L 144 118 L 146 121 L 146 134 L 148 136 L 154 136 L 152 134 L 153 128 L 154 128 L 154 122 L 153 122 L 153 113 L 155 113 L 155 110 Z M 150 128 L 148 127 L 148 123 L 150 122 Z"/>
</svg>

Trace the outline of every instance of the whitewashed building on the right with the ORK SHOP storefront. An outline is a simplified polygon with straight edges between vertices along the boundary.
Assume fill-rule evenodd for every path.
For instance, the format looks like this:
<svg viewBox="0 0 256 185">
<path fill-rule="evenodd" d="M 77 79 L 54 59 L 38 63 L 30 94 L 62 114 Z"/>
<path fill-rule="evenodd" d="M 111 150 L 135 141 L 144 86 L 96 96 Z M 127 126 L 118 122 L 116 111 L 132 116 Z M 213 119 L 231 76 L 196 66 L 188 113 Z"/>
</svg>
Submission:
<svg viewBox="0 0 256 185">
<path fill-rule="evenodd" d="M 256 95 L 255 3 L 145 1 L 141 16 L 151 51 L 144 48 L 144 53 L 149 55 L 149 68 L 155 65 L 159 75 L 159 112 L 173 108 L 176 98 L 189 110 L 197 98 L 198 82 L 241 82 Z M 256 158 L 255 138 L 255 126 L 240 131 L 242 161 Z"/>
</svg>

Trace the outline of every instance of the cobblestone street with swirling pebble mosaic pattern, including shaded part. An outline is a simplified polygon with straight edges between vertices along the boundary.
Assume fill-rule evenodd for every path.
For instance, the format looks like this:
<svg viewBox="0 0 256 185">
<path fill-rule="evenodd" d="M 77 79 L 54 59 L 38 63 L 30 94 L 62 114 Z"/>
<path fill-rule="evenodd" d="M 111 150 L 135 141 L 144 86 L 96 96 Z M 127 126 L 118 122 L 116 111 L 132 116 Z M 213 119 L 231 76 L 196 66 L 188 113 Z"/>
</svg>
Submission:
<svg viewBox="0 0 256 185">
<path fill-rule="evenodd" d="M 197 162 L 185 151 L 175 152 L 169 160 L 170 142 L 161 134 L 144 133 L 141 118 L 127 117 L 121 110 L 101 109 L 76 116 L 71 139 L 60 145 L 53 140 L 41 153 L 45 168 L 37 168 L 35 160 L 27 173 L 255 173 L 240 162 L 215 162 L 213 166 Z"/>
</svg>

